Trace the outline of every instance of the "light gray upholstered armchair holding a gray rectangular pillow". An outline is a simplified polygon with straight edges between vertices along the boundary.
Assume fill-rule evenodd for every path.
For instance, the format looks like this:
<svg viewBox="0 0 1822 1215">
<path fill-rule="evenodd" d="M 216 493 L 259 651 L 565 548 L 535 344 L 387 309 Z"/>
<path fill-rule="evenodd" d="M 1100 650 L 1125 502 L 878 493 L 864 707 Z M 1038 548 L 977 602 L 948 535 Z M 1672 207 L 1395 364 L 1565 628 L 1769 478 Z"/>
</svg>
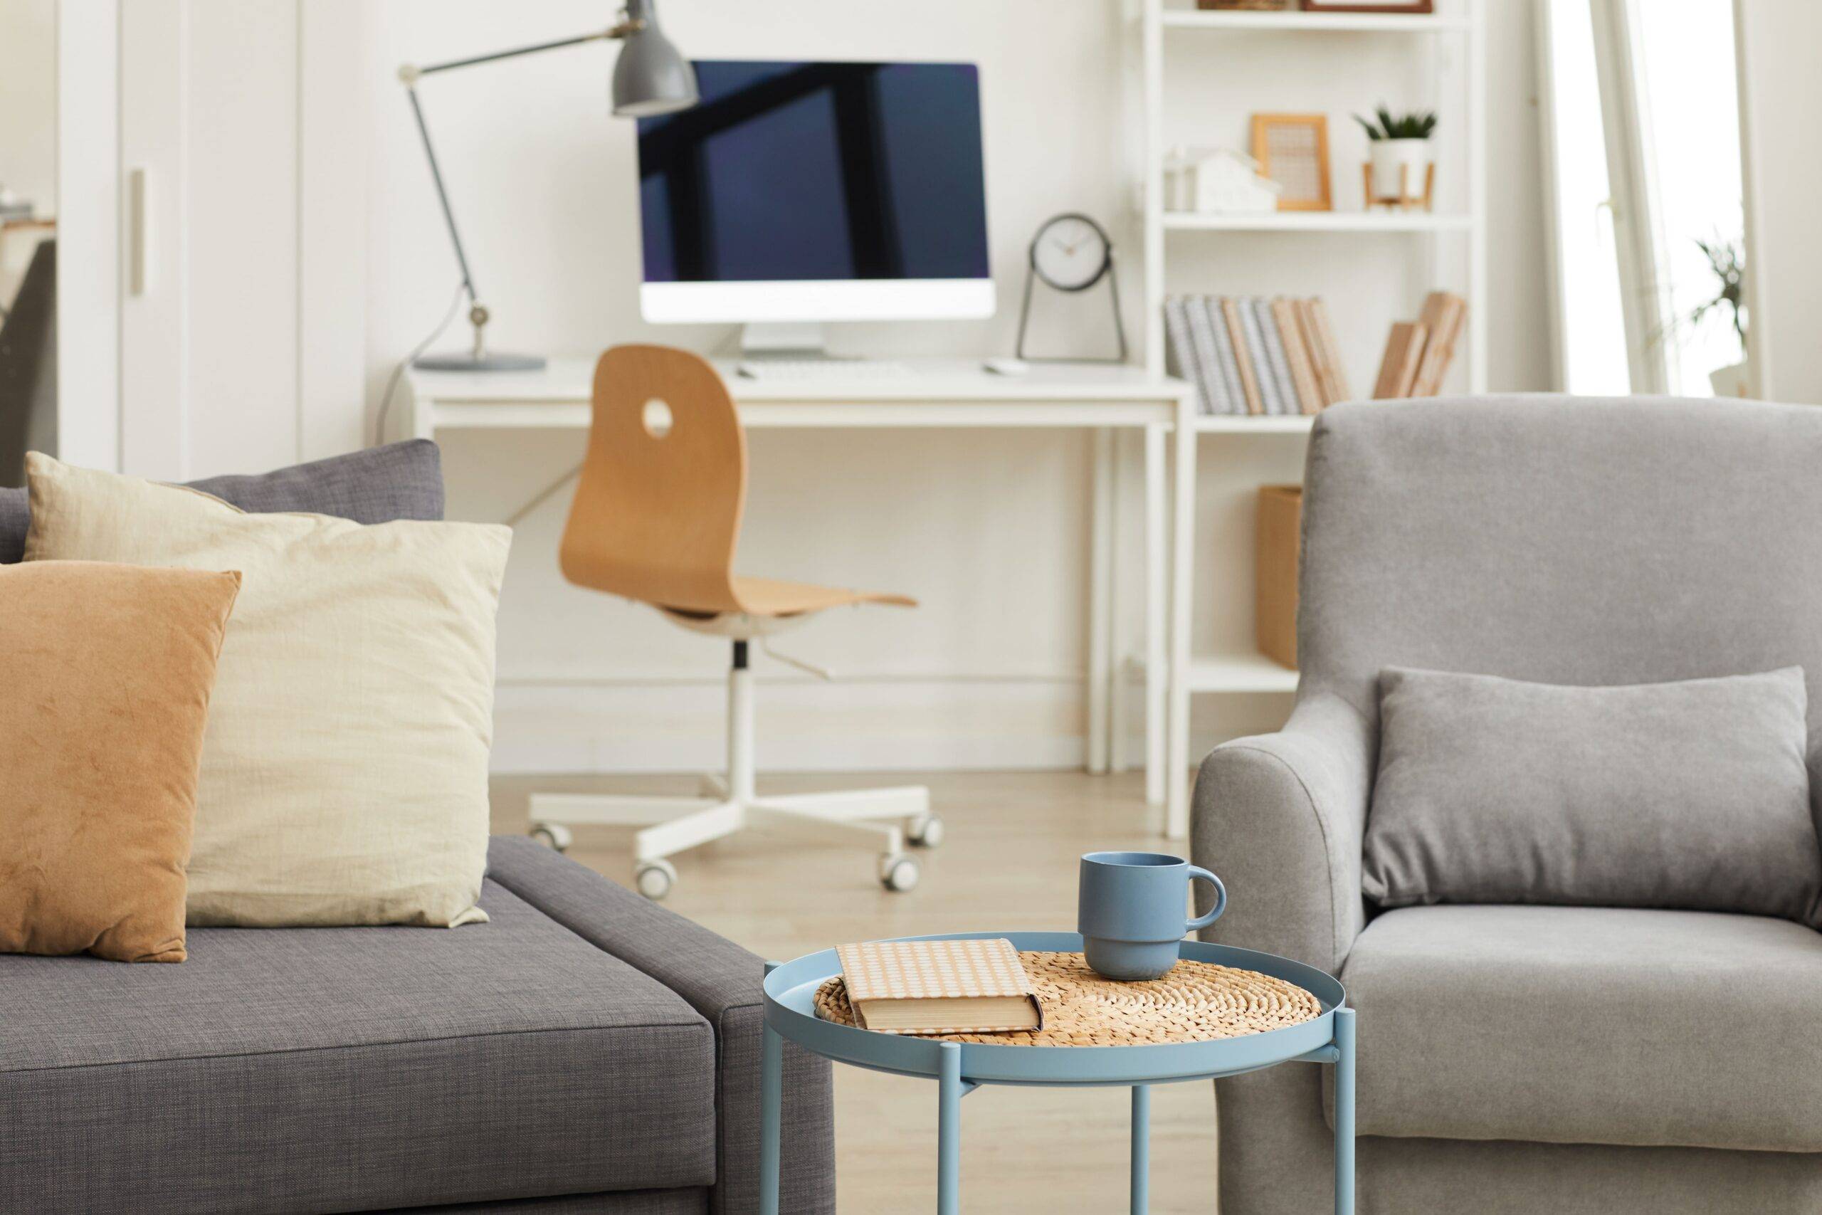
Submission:
<svg viewBox="0 0 1822 1215">
<path fill-rule="evenodd" d="M 1343 404 L 1305 475 L 1295 710 L 1217 747 L 1208 933 L 1359 1009 L 1363 1215 L 1822 1211 L 1822 934 L 1361 896 L 1383 667 L 1616 685 L 1802 665 L 1822 791 L 1822 410 Z M 1326 1067 L 1217 1084 L 1223 1215 L 1328 1210 Z"/>
</svg>

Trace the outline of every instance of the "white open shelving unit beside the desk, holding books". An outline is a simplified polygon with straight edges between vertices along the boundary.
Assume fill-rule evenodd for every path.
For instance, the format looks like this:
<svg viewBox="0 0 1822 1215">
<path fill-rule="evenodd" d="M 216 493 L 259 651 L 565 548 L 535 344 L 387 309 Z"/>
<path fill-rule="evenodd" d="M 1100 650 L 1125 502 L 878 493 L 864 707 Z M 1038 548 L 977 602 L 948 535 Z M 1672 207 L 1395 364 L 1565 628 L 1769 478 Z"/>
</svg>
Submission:
<svg viewBox="0 0 1822 1215">
<path fill-rule="evenodd" d="M 1168 293 L 1321 295 L 1341 332 L 1346 379 L 1366 392 L 1394 321 L 1416 319 L 1428 290 L 1469 301 L 1465 346 L 1448 390 L 1487 388 L 1487 47 L 1478 0 L 1438 0 L 1434 15 L 1201 11 L 1192 0 L 1128 0 L 1137 7 L 1144 361 L 1164 372 Z M 1441 118 L 1436 211 L 1365 211 L 1365 140 L 1350 113 L 1381 98 L 1396 109 L 1434 107 Z M 1175 144 L 1246 149 L 1255 111 L 1326 113 L 1332 211 L 1199 215 L 1166 211 L 1164 157 Z M 1286 268 L 1277 284 L 1275 270 Z M 1370 266 L 1370 271 L 1359 270 Z M 1233 277 L 1228 277 L 1228 271 Z M 1352 275 L 1352 277 L 1348 277 Z M 1359 291 L 1372 275 L 1374 291 Z M 1366 297 L 1372 299 L 1366 299 Z M 1188 696 L 1286 694 L 1297 672 L 1252 643 L 1250 512 L 1254 485 L 1301 466 L 1310 417 L 1201 417 L 1192 528 L 1203 567 L 1192 579 L 1192 661 L 1173 690 L 1168 769 L 1188 767 Z M 1277 446 L 1288 444 L 1288 446 Z M 1250 477 L 1250 481 L 1248 481 Z M 1215 512 L 1215 514 L 1210 514 Z M 1195 517 L 1199 516 L 1199 517 Z M 1141 661 L 1130 669 L 1142 669 Z M 1257 710 L 1217 710 L 1226 721 Z M 1270 729 L 1270 727 L 1266 727 Z M 1186 794 L 1170 772 L 1170 829 L 1184 827 Z"/>
</svg>

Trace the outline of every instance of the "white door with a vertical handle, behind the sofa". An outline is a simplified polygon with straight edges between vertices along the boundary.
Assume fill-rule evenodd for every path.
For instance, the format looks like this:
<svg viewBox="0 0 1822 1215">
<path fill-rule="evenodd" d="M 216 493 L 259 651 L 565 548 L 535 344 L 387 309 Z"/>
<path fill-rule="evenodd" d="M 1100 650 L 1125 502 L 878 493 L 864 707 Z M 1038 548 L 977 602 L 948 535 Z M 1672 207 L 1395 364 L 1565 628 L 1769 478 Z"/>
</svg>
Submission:
<svg viewBox="0 0 1822 1215">
<path fill-rule="evenodd" d="M 97 184 L 113 179 L 113 206 L 95 189 L 93 213 L 71 235 L 102 248 L 115 233 L 118 468 L 191 479 L 359 446 L 361 5 L 64 0 L 64 9 L 66 26 L 71 11 L 84 15 L 95 118 L 87 131 L 66 129 L 62 146 L 87 160 Z M 107 62 L 111 78 L 100 71 Z M 97 129 L 104 113 L 117 115 L 117 129 Z M 80 332 L 95 333 L 104 310 L 87 304 Z"/>
</svg>

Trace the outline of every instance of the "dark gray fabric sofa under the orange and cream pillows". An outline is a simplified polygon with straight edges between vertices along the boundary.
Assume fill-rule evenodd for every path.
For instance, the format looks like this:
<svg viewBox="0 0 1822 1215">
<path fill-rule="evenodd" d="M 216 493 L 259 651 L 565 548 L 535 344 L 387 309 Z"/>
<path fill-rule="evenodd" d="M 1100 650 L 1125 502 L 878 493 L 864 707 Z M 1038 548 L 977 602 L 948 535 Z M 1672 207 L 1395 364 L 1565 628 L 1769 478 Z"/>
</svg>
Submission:
<svg viewBox="0 0 1822 1215">
<path fill-rule="evenodd" d="M 211 492 L 439 517 L 428 443 Z M 0 490 L 0 554 L 26 503 Z M 490 924 L 191 929 L 182 965 L 0 955 L 0 1211 L 758 1210 L 762 960 L 523 838 Z M 829 1066 L 785 1047 L 782 1202 L 834 1210 Z"/>
</svg>

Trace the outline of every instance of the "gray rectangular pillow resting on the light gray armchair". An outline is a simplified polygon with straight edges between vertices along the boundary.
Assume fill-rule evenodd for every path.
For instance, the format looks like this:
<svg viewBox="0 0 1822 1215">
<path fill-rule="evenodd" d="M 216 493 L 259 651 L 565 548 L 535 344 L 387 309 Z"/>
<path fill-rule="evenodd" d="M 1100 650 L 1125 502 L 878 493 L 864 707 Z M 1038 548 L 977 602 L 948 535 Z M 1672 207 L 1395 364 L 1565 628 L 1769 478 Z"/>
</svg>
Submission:
<svg viewBox="0 0 1822 1215">
<path fill-rule="evenodd" d="M 1804 672 L 1556 687 L 1379 676 L 1361 889 L 1818 924 Z"/>
</svg>

